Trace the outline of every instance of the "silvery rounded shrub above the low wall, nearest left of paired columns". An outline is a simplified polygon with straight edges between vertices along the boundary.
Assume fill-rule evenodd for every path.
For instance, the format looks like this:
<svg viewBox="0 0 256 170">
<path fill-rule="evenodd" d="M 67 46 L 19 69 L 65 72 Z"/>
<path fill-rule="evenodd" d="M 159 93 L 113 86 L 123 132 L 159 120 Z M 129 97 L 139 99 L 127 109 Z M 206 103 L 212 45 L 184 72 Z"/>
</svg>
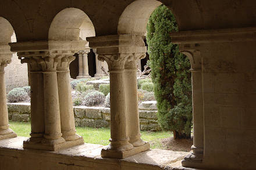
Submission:
<svg viewBox="0 0 256 170">
<path fill-rule="evenodd" d="M 97 106 L 99 104 L 103 104 L 104 102 L 105 95 L 99 91 L 90 92 L 83 98 L 84 106 Z"/>
</svg>

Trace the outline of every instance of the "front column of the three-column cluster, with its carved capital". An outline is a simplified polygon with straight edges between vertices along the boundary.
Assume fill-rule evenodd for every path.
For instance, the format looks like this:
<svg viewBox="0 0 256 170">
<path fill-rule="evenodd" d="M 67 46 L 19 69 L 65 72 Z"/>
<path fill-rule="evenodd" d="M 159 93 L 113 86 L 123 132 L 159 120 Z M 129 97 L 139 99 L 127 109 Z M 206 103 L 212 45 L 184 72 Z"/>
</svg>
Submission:
<svg viewBox="0 0 256 170">
<path fill-rule="evenodd" d="M 44 121 L 45 133 L 43 144 L 50 150 L 56 150 L 58 144 L 65 142 L 61 133 L 61 116 L 59 111 L 59 93 L 56 66 L 61 56 L 45 56 L 40 59 L 44 74 Z"/>
</svg>

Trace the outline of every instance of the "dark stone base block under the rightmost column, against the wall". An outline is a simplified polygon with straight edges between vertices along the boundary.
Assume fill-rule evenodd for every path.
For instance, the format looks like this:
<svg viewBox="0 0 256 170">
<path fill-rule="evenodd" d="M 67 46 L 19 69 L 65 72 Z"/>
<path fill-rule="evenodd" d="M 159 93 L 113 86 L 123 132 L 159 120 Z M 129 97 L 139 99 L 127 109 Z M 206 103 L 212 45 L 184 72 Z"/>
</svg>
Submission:
<svg viewBox="0 0 256 170">
<path fill-rule="evenodd" d="M 186 168 L 203 168 L 202 154 L 190 153 L 182 160 L 182 166 Z"/>
</svg>

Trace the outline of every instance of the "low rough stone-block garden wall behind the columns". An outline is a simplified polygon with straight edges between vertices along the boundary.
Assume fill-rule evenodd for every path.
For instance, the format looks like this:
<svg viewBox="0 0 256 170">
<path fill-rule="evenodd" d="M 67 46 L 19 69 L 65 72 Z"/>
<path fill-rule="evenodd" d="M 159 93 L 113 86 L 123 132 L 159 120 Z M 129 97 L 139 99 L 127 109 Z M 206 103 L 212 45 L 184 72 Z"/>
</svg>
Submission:
<svg viewBox="0 0 256 170">
<path fill-rule="evenodd" d="M 10 121 L 30 121 L 30 103 L 8 103 Z M 76 126 L 106 128 L 110 126 L 110 108 L 74 106 Z M 140 110 L 141 131 L 159 131 L 157 111 Z"/>
</svg>

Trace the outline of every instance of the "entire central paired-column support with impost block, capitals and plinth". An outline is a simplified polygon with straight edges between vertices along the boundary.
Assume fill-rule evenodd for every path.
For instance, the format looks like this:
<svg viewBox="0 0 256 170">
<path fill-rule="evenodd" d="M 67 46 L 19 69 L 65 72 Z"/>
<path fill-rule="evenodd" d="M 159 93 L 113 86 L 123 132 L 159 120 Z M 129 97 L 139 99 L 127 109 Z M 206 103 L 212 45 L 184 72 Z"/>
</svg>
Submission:
<svg viewBox="0 0 256 170">
<path fill-rule="evenodd" d="M 125 158 L 130 155 L 138 154 L 150 149 L 150 144 L 140 140 L 140 129 L 138 117 L 131 118 L 127 111 L 137 115 L 136 98 L 136 70 L 134 69 L 137 62 L 134 58 L 138 56 L 136 53 L 145 53 L 146 48 L 143 39 L 140 35 L 106 35 L 101 37 L 88 37 L 91 48 L 96 48 L 99 54 L 98 59 L 108 63 L 110 91 L 111 91 L 111 144 L 101 150 L 102 157 L 108 158 Z M 140 55 L 141 56 L 141 55 Z M 130 75 L 130 67 L 125 67 L 126 62 L 131 62 L 133 66 L 132 74 Z M 129 64 L 127 64 L 128 66 Z M 125 69 L 127 68 L 127 69 Z M 130 81 L 128 81 L 127 78 Z M 125 80 L 127 79 L 127 81 Z M 131 91 L 127 90 L 130 85 Z M 134 90 L 136 86 L 136 90 Z M 132 92 L 132 94 L 128 94 Z M 127 108 L 135 107 L 135 108 Z M 135 121 L 135 124 L 127 121 Z M 130 127 L 134 126 L 134 127 Z M 131 131 L 135 132 L 131 132 Z M 130 137 L 131 136 L 131 140 Z M 132 142 L 134 144 L 131 144 Z"/>
</svg>

